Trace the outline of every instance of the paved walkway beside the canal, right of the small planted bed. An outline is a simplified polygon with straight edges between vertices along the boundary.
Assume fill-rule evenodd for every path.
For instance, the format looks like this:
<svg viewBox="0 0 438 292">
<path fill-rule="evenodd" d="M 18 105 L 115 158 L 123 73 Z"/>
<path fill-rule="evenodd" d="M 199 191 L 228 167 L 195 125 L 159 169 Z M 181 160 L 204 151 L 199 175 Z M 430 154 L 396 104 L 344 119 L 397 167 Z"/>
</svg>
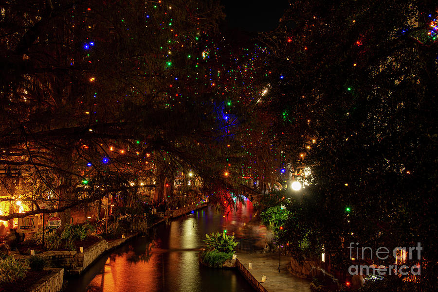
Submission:
<svg viewBox="0 0 438 292">
<path fill-rule="evenodd" d="M 243 253 L 237 252 L 237 259 L 248 269 L 252 263 L 252 269 L 248 270 L 259 282 L 262 276 L 266 276 L 266 282 L 261 285 L 268 292 L 310 292 L 310 281 L 291 275 L 288 271 L 289 256 L 281 255 L 280 273 L 278 273 L 278 254 L 275 253 Z"/>
</svg>

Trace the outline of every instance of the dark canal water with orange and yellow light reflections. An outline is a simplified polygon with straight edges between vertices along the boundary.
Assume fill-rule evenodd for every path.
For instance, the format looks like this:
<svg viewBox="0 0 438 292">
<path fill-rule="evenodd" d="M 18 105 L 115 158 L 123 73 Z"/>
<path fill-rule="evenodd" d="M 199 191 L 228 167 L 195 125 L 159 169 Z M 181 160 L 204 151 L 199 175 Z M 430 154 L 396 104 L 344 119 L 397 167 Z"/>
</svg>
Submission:
<svg viewBox="0 0 438 292">
<path fill-rule="evenodd" d="M 210 269 L 198 261 L 206 233 L 234 233 L 240 249 L 264 244 L 266 232 L 251 223 L 253 206 L 246 202 L 226 217 L 204 208 L 160 224 L 99 258 L 69 280 L 66 292 L 253 292 L 237 270 Z"/>
</svg>

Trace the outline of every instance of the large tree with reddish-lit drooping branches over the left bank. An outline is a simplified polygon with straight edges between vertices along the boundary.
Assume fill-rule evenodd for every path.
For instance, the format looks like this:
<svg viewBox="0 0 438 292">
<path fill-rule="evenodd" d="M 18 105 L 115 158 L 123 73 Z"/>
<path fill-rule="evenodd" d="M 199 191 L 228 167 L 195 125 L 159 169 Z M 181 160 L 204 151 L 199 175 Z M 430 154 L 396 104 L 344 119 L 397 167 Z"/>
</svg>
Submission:
<svg viewBox="0 0 438 292">
<path fill-rule="evenodd" d="M 218 66 L 208 57 L 217 2 L 17 0 L 1 9 L 0 163 L 25 181 L 4 199 L 24 195 L 32 208 L 1 219 L 139 188 L 162 202 L 175 173 L 190 169 L 200 193 L 223 194 L 213 161 L 229 121 L 218 120 L 223 98 L 201 78 Z"/>
</svg>

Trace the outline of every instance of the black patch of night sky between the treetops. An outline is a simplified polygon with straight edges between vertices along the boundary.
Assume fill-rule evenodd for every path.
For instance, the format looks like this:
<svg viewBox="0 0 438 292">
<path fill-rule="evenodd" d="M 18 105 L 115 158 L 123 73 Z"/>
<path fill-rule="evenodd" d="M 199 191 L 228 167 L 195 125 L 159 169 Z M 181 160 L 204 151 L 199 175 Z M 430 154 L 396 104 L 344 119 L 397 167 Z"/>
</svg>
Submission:
<svg viewBox="0 0 438 292">
<path fill-rule="evenodd" d="M 289 5 L 288 0 L 220 0 L 230 29 L 251 33 L 270 31 Z"/>
</svg>

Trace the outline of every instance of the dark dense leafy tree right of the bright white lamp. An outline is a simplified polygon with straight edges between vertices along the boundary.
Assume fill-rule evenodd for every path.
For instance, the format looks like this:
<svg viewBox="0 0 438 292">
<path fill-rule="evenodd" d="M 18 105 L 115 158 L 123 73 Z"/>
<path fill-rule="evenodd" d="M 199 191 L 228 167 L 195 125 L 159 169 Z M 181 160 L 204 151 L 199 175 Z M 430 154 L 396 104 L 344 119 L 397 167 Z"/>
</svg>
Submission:
<svg viewBox="0 0 438 292">
<path fill-rule="evenodd" d="M 276 90 L 266 106 L 314 179 L 290 206 L 282 240 L 295 254 L 308 242 L 347 266 L 349 242 L 421 242 L 407 264 L 435 285 L 436 17 L 431 1 L 293 1 L 262 36 Z"/>
</svg>

